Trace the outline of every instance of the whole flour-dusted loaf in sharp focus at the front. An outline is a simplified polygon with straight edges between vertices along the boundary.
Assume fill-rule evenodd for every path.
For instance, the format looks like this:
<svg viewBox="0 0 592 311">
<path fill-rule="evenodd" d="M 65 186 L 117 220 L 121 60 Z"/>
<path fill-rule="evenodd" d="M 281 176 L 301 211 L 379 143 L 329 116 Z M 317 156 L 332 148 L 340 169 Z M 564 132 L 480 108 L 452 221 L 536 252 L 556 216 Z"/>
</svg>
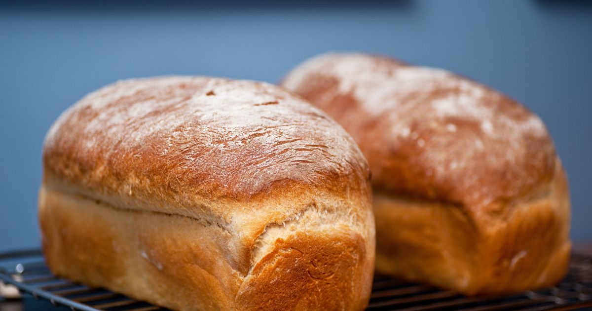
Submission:
<svg viewBox="0 0 592 311">
<path fill-rule="evenodd" d="M 369 168 L 345 130 L 278 86 L 121 81 L 43 148 L 57 275 L 184 310 L 360 310 L 374 272 Z"/>
</svg>

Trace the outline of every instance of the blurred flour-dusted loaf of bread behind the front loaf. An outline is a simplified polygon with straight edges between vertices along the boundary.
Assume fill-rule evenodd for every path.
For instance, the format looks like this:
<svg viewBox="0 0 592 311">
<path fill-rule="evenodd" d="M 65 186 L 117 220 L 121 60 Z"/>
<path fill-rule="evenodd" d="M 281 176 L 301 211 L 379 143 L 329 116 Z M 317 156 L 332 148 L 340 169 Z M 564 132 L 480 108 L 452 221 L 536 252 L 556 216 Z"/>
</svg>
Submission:
<svg viewBox="0 0 592 311">
<path fill-rule="evenodd" d="M 379 272 L 465 294 L 563 277 L 567 181 L 525 107 L 445 70 L 358 53 L 315 57 L 282 85 L 342 124 L 368 159 Z"/>
</svg>

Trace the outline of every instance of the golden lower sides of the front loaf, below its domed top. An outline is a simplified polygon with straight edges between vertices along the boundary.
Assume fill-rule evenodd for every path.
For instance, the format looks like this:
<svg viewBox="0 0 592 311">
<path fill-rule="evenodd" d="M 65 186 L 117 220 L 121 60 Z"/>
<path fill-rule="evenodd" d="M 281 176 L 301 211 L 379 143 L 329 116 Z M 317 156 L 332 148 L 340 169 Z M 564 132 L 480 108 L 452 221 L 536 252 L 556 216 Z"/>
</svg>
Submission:
<svg viewBox="0 0 592 311">
<path fill-rule="evenodd" d="M 57 275 L 179 310 L 362 310 L 373 241 L 343 219 L 323 219 L 333 225 L 322 226 L 311 217 L 287 225 L 271 252 L 243 274 L 226 260 L 224 233 L 215 225 L 44 187 L 40 193 L 43 249 Z"/>
</svg>

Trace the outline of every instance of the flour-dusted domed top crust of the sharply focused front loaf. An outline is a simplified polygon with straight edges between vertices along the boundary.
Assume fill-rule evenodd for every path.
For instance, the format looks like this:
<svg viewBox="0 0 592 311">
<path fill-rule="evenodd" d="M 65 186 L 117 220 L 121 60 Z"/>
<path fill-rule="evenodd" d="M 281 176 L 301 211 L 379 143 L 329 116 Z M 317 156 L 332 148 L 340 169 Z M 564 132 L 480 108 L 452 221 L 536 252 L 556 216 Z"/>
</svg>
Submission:
<svg viewBox="0 0 592 311">
<path fill-rule="evenodd" d="M 277 86 L 223 78 L 132 79 L 98 89 L 53 124 L 43 164 L 46 187 L 224 222 L 225 200 L 370 191 L 356 143 L 326 114 Z"/>
</svg>

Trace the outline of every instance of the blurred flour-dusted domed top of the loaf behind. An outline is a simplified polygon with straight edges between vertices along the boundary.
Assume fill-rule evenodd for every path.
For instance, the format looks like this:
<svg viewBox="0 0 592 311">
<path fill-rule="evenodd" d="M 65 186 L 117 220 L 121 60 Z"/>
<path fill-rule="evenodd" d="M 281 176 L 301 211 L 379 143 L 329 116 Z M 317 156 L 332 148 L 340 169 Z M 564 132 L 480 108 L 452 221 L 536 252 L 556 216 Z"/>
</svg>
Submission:
<svg viewBox="0 0 592 311">
<path fill-rule="evenodd" d="M 479 212 L 546 187 L 555 149 L 539 117 L 500 92 L 441 69 L 331 53 L 282 85 L 358 142 L 375 190 Z"/>
</svg>

